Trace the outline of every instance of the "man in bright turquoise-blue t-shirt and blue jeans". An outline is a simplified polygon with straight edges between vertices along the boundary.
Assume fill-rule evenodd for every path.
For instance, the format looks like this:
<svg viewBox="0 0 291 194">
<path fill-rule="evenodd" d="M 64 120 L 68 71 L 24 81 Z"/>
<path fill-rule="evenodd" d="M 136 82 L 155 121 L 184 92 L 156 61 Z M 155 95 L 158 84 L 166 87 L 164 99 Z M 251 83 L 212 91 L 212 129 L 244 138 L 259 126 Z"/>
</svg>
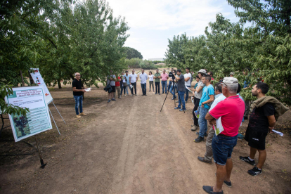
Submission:
<svg viewBox="0 0 291 194">
<path fill-rule="evenodd" d="M 195 143 L 199 143 L 201 141 L 204 141 L 204 136 L 207 136 L 207 120 L 205 119 L 205 116 L 210 108 L 208 103 L 212 103 L 214 101 L 214 88 L 211 82 L 211 76 L 210 75 L 203 75 L 202 82 L 205 84 L 205 87 L 202 90 L 202 97 L 200 99 L 199 103 L 199 136 L 198 138 L 195 138 Z"/>
</svg>

